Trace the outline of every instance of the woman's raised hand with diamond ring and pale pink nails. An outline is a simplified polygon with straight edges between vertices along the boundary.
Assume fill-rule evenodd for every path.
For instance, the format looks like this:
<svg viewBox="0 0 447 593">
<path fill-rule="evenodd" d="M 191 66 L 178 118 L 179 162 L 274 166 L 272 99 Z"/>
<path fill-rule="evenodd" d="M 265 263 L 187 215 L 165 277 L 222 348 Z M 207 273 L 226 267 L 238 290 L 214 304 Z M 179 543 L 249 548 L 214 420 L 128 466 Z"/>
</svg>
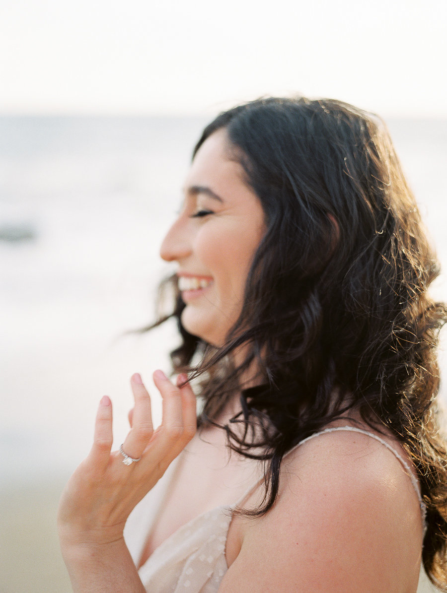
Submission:
<svg viewBox="0 0 447 593">
<path fill-rule="evenodd" d="M 59 537 L 69 572 L 69 565 L 82 565 L 84 556 L 86 562 L 97 554 L 104 560 L 104 554 L 123 549 L 123 528 L 132 509 L 194 436 L 196 402 L 186 375 L 179 375 L 174 385 L 156 371 L 154 382 L 163 398 L 163 419 L 155 431 L 150 396 L 140 375 L 131 379 L 135 407 L 122 449 L 141 460 L 130 465 L 122 463 L 119 451 L 111 452 L 112 403 L 107 396 L 101 400 L 93 447 L 66 485 L 59 505 Z"/>
</svg>

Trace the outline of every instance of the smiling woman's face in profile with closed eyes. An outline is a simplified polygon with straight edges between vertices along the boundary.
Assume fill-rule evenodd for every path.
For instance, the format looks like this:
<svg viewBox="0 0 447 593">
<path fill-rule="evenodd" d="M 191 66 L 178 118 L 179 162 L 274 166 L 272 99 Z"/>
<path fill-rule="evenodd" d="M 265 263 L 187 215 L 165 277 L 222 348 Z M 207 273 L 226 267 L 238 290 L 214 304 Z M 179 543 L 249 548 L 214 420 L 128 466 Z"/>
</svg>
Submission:
<svg viewBox="0 0 447 593">
<path fill-rule="evenodd" d="M 214 132 L 194 157 L 180 215 L 161 244 L 161 257 L 176 261 L 186 304 L 183 327 L 222 345 L 242 309 L 245 282 L 265 232 L 258 197 L 230 160 L 225 130 Z"/>
</svg>

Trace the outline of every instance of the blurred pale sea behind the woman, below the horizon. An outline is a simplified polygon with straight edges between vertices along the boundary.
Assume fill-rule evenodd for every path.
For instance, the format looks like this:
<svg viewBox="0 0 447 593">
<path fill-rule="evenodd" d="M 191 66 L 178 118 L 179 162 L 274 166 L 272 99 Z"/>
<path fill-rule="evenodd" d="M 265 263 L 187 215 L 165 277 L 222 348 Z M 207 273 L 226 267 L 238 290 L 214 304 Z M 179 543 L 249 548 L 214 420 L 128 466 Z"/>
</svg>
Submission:
<svg viewBox="0 0 447 593">
<path fill-rule="evenodd" d="M 128 378 L 169 368 L 172 327 L 122 333 L 154 317 L 158 245 L 206 122 L 0 117 L 0 484 L 68 477 L 104 393 L 118 446 Z M 447 120 L 388 125 L 447 270 Z M 445 277 L 435 293 L 447 298 Z"/>
</svg>

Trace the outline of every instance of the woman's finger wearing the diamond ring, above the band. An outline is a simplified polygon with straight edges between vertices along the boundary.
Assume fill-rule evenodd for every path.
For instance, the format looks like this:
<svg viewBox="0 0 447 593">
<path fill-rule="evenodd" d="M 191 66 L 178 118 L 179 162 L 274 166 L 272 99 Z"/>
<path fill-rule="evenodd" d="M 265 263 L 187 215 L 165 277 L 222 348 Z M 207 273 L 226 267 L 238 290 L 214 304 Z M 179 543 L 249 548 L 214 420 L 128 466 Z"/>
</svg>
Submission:
<svg viewBox="0 0 447 593">
<path fill-rule="evenodd" d="M 132 413 L 132 428 L 123 442 L 123 450 L 129 457 L 141 457 L 146 448 L 154 428 L 152 424 L 151 398 L 143 385 L 138 373 L 131 378 L 135 407 Z"/>
</svg>

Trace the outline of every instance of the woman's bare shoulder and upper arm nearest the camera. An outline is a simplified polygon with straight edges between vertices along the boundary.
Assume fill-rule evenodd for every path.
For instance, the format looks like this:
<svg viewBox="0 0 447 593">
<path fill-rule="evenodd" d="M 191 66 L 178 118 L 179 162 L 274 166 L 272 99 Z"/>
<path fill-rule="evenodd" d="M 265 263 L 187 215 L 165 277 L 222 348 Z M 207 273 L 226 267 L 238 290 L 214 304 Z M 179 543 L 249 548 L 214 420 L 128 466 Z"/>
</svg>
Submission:
<svg viewBox="0 0 447 593">
<path fill-rule="evenodd" d="M 304 442 L 284 460 L 271 511 L 234 528 L 240 551 L 222 591 L 416 591 L 419 500 L 371 436 L 334 431 Z"/>
</svg>

